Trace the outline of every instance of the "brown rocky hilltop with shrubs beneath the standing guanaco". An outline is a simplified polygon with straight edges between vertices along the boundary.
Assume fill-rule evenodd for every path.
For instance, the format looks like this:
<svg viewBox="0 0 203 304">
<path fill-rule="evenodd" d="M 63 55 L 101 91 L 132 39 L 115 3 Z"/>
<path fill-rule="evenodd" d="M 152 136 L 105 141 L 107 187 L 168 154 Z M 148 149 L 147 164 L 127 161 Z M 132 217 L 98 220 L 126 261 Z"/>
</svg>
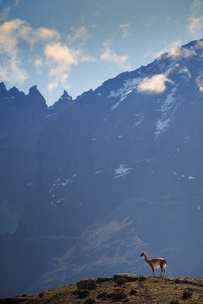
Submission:
<svg viewBox="0 0 203 304">
<path fill-rule="evenodd" d="M 1 304 L 92 304 L 92 303 L 159 303 L 202 304 L 203 279 L 146 277 L 117 274 L 113 278 L 88 279 L 93 283 L 71 284 L 53 288 L 35 295 L 16 295 L 15 298 L 0 299 Z M 85 281 L 85 280 L 82 280 Z M 81 281 L 80 281 L 81 282 Z M 82 289 L 81 286 L 84 286 Z"/>
</svg>

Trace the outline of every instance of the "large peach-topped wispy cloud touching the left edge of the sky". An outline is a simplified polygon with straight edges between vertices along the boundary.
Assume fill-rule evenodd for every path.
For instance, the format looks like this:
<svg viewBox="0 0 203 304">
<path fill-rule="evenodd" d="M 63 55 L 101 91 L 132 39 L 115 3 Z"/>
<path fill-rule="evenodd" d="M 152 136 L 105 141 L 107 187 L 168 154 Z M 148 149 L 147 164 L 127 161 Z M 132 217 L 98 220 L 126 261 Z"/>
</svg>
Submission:
<svg viewBox="0 0 203 304">
<path fill-rule="evenodd" d="M 44 43 L 53 37 L 59 37 L 54 29 L 33 29 L 29 23 L 20 19 L 4 22 L 0 26 L 1 79 L 22 84 L 28 78 L 28 73 L 23 67 L 25 58 L 22 59 L 20 43 L 26 41 L 29 47 L 33 43 Z M 36 62 L 34 65 L 36 66 Z"/>
</svg>

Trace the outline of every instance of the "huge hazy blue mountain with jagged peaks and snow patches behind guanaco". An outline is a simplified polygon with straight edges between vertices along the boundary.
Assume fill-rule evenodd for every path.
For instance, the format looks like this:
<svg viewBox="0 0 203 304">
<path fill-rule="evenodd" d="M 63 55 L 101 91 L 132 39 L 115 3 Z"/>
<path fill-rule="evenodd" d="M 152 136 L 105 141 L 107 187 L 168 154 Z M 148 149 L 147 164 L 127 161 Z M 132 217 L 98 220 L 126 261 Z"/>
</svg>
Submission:
<svg viewBox="0 0 203 304">
<path fill-rule="evenodd" d="M 13 116 L 1 84 L 3 297 L 147 275 L 141 250 L 201 276 L 202 52 L 192 41 L 48 109 L 36 86 L 12 88 Z"/>
</svg>

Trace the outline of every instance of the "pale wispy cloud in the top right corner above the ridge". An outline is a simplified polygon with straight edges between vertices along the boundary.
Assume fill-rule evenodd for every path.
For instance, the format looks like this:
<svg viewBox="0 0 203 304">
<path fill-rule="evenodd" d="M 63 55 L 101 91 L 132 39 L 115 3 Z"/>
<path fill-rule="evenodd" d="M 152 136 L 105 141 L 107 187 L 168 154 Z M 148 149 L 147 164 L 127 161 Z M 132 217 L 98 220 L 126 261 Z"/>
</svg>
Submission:
<svg viewBox="0 0 203 304">
<path fill-rule="evenodd" d="M 202 22 L 203 22 L 203 11 L 202 1 L 195 0 L 190 5 L 190 12 L 188 15 L 188 33 L 191 34 L 194 39 L 201 38 L 202 35 Z"/>
</svg>

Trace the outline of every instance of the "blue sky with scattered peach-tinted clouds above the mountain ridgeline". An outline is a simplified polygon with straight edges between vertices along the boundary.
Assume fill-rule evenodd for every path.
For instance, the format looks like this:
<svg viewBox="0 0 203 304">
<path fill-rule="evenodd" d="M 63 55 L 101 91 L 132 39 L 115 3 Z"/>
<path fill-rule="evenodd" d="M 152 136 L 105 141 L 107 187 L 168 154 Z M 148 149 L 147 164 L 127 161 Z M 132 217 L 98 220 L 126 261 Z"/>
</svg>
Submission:
<svg viewBox="0 0 203 304">
<path fill-rule="evenodd" d="M 203 0 L 0 0 L 0 82 L 52 105 L 203 38 Z"/>
</svg>

